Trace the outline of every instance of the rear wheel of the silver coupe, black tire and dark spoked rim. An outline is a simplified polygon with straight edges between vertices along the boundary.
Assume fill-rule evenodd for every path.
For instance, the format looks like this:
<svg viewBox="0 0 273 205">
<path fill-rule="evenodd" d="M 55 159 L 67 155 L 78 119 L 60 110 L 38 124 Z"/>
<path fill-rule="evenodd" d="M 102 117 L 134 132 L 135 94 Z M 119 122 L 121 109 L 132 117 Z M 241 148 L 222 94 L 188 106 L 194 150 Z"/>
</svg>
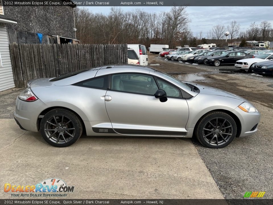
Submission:
<svg viewBox="0 0 273 205">
<path fill-rule="evenodd" d="M 56 108 L 47 112 L 42 118 L 40 132 L 48 144 L 68 147 L 82 135 L 82 123 L 75 113 Z"/>
</svg>

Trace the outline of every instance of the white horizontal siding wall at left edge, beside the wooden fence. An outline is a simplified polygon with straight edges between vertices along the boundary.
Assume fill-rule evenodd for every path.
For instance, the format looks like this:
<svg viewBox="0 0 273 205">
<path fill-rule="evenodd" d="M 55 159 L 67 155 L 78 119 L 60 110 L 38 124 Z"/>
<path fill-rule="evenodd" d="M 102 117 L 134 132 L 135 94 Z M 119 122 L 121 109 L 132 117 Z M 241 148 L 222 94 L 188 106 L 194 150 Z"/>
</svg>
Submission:
<svg viewBox="0 0 273 205">
<path fill-rule="evenodd" d="M 15 87 L 9 52 L 9 39 L 5 24 L 0 24 L 0 91 Z"/>
</svg>

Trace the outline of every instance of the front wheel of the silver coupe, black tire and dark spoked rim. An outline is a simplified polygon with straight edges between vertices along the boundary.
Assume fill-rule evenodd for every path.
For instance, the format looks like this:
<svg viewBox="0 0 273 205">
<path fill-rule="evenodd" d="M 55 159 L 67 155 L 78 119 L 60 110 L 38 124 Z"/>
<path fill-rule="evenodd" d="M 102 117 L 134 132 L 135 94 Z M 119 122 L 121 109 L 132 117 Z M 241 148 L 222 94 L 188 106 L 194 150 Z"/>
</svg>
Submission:
<svg viewBox="0 0 273 205">
<path fill-rule="evenodd" d="M 221 126 L 224 126 L 224 129 Z M 198 141 L 204 147 L 209 148 L 226 147 L 234 140 L 236 133 L 237 126 L 235 121 L 225 112 L 210 112 L 206 114 L 200 119 L 195 130 Z"/>
</svg>

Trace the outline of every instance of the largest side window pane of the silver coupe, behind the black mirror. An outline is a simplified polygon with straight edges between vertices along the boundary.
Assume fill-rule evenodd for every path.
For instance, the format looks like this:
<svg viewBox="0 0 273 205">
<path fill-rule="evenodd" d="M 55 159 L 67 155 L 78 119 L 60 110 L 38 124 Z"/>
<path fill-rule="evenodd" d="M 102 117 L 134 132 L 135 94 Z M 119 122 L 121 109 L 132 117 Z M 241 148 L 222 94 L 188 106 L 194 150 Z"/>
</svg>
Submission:
<svg viewBox="0 0 273 205">
<path fill-rule="evenodd" d="M 152 76 L 128 73 L 112 75 L 111 89 L 128 93 L 154 95 L 158 87 Z"/>
</svg>

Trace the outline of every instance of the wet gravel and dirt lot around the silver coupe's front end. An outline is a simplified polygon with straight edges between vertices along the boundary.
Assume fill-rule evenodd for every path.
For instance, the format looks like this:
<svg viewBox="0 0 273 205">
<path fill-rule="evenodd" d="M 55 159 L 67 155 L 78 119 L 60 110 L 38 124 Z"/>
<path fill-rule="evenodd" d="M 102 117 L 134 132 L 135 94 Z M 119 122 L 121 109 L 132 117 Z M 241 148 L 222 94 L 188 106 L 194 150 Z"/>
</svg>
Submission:
<svg viewBox="0 0 273 205">
<path fill-rule="evenodd" d="M 258 132 L 249 137 L 236 138 L 228 147 L 209 149 L 193 143 L 226 199 L 243 198 L 246 191 L 265 191 L 263 198 L 273 198 L 273 77 L 251 75 L 237 71 L 234 66 L 191 65 L 164 61 L 149 56 L 152 66 L 165 72 L 190 73 L 204 77 L 195 82 L 216 87 L 251 101 L 261 112 Z M 230 71 L 233 70 L 233 71 Z M 185 75 L 185 74 L 184 74 Z"/>
</svg>

